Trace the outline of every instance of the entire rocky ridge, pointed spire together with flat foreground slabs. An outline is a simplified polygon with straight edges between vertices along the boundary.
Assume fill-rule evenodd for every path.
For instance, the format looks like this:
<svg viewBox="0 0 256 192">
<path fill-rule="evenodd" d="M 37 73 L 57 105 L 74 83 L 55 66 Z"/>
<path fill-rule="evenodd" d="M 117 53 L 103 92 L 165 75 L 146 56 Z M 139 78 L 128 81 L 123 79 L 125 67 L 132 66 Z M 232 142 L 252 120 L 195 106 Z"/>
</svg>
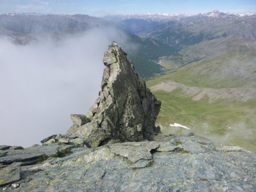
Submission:
<svg viewBox="0 0 256 192">
<path fill-rule="evenodd" d="M 155 136 L 160 102 L 126 53 L 113 43 L 104 64 L 99 98 L 67 134 L 0 146 L 0 191 L 255 191 L 255 152 Z"/>
</svg>

